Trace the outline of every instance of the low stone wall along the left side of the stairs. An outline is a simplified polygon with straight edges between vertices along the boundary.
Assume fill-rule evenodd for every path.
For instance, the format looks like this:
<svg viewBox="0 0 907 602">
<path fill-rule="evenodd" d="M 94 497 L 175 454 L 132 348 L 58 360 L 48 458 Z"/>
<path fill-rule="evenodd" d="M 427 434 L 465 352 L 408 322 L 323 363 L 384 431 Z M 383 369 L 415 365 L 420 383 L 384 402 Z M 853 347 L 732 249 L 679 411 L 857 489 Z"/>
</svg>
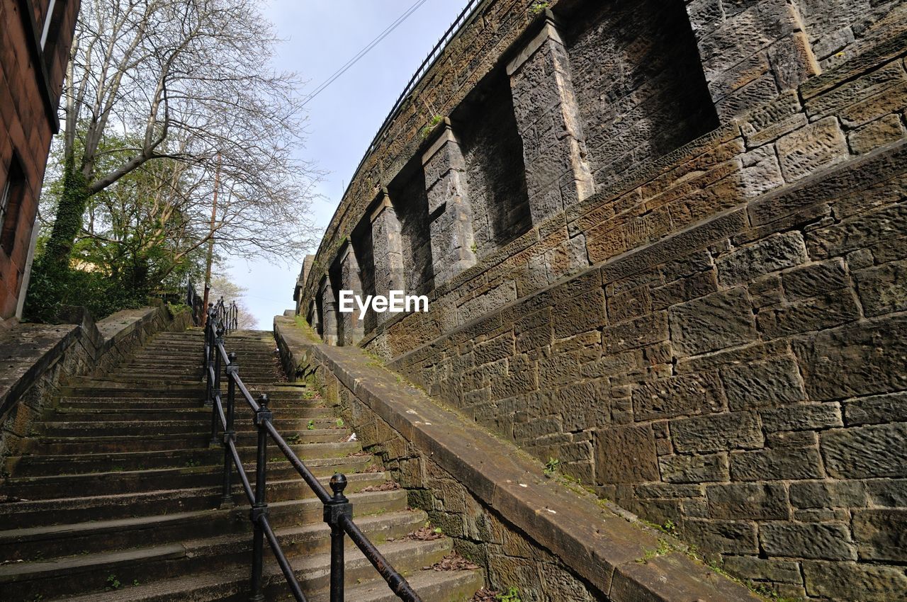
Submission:
<svg viewBox="0 0 907 602">
<path fill-rule="evenodd" d="M 71 324 L 17 324 L 0 332 L 0 459 L 16 455 L 32 422 L 52 407 L 67 378 L 103 374 L 154 333 L 185 330 L 192 320 L 188 311 L 172 315 L 160 301 L 124 309 L 96 325 L 82 308 L 63 317 Z"/>
</svg>

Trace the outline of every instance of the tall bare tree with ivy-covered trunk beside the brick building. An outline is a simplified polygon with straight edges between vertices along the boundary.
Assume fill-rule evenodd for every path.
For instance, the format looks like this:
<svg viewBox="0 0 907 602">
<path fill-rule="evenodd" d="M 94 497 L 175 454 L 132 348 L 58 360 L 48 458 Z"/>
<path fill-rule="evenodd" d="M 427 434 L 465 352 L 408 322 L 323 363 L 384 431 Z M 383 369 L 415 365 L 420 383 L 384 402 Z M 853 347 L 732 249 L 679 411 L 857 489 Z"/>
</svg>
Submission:
<svg viewBox="0 0 907 602">
<path fill-rule="evenodd" d="M 246 257 L 295 259 L 309 248 L 317 172 L 292 156 L 303 132 L 298 81 L 270 70 L 276 43 L 248 0 L 83 0 L 44 265 L 68 266 L 94 195 L 161 160 L 180 179 L 179 195 L 161 188 L 169 201 L 152 208 L 167 217 L 177 205 L 194 209 L 180 209 L 184 231 L 195 233 L 187 252 L 211 238 L 221 253 Z"/>
</svg>

